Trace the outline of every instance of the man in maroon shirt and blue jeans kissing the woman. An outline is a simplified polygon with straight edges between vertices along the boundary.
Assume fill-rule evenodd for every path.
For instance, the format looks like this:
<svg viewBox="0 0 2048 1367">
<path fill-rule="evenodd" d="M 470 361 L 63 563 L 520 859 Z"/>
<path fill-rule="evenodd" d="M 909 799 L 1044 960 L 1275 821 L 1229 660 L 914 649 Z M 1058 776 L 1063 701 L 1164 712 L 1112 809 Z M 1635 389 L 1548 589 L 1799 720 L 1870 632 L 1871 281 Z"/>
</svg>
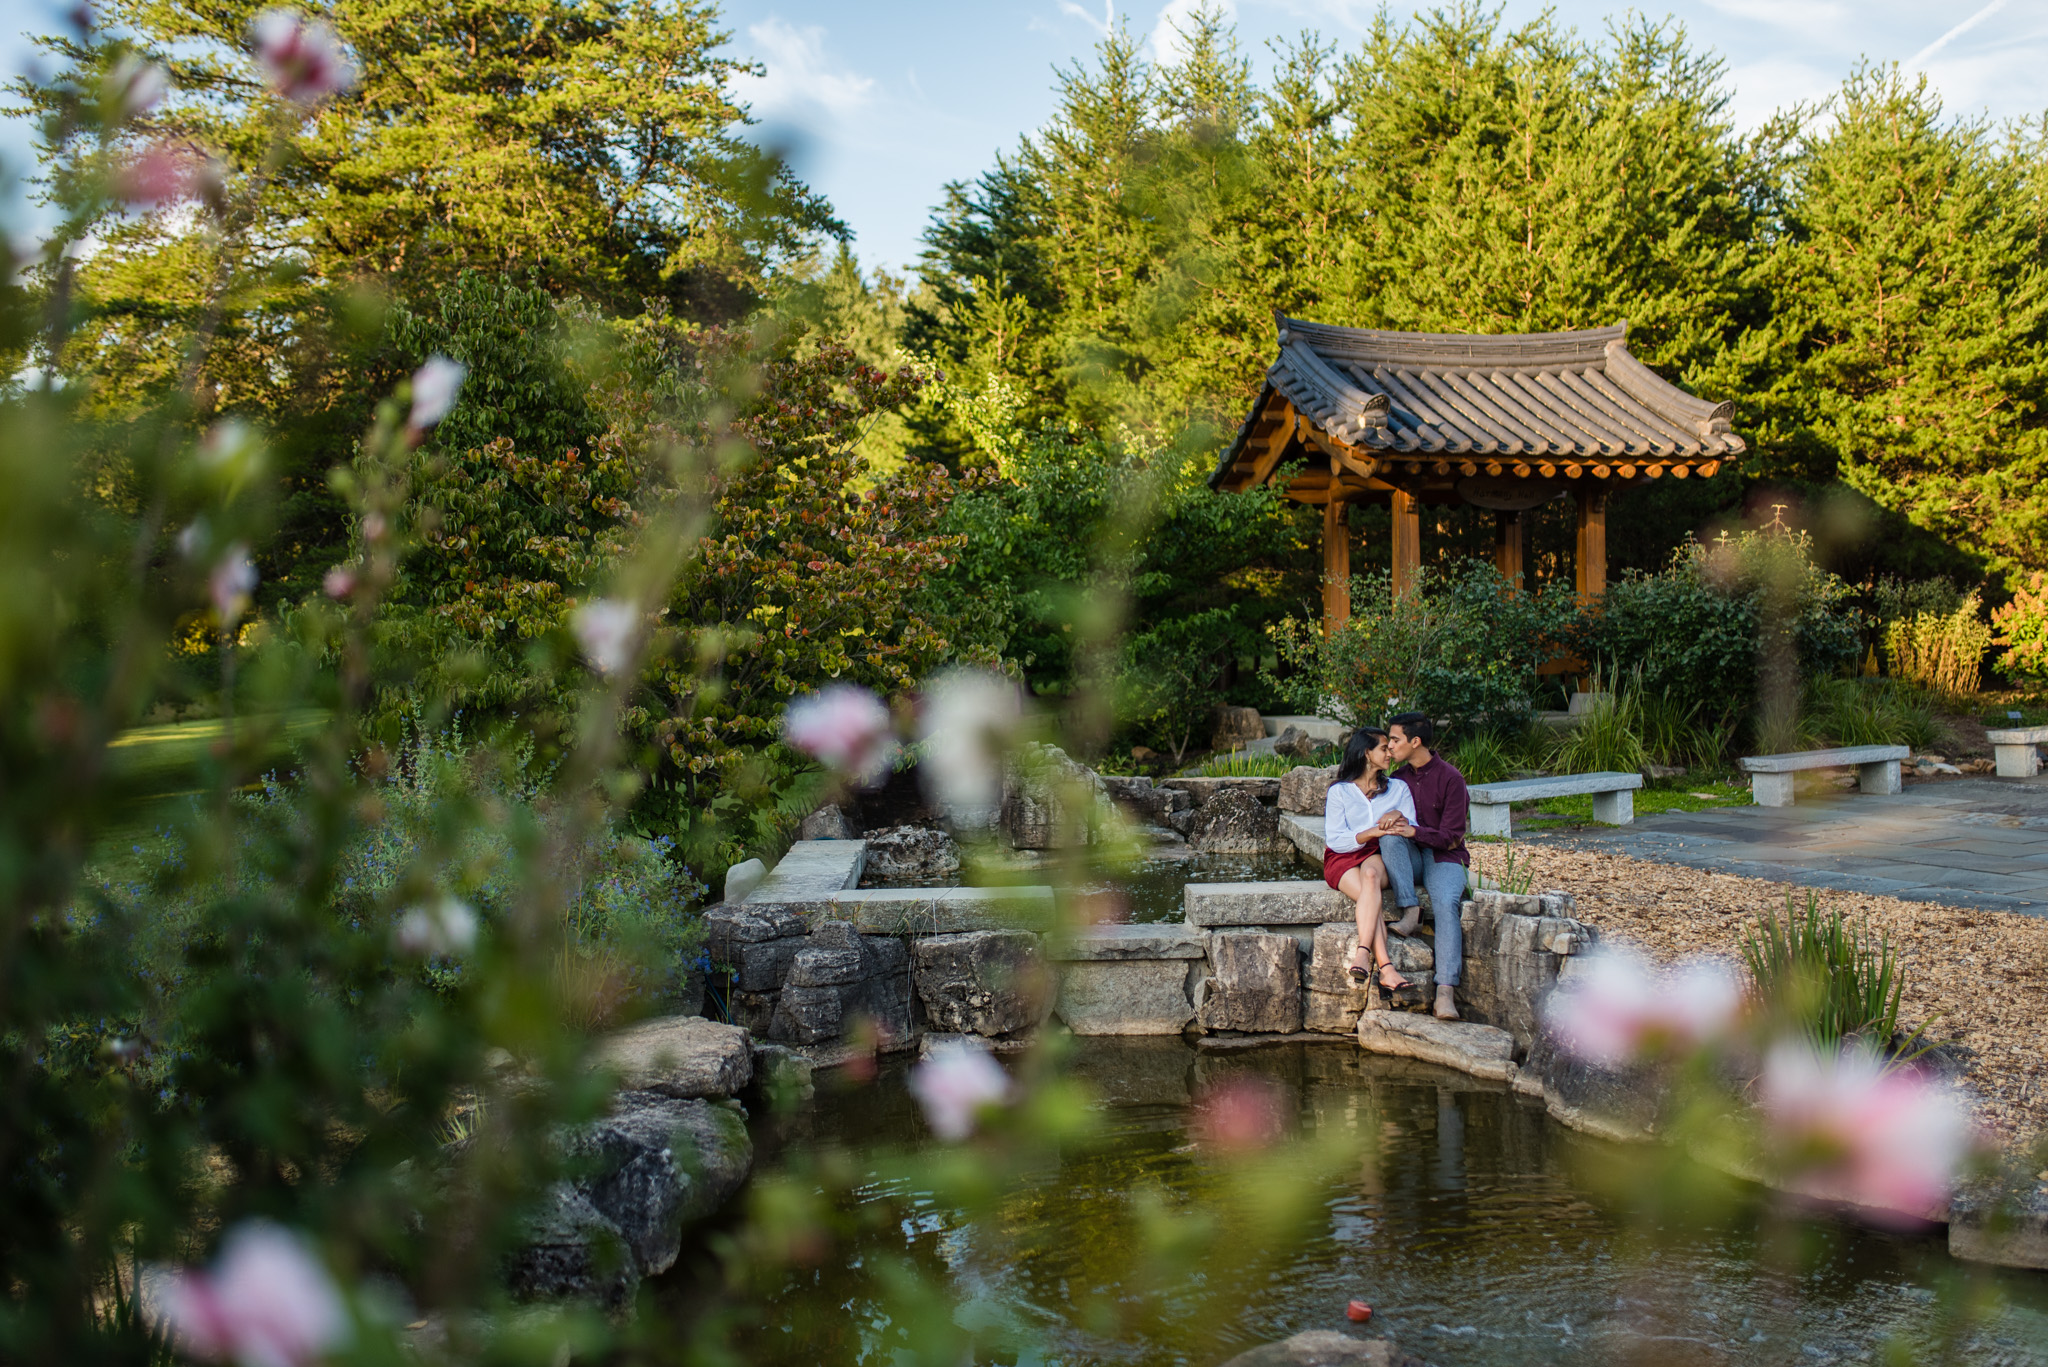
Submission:
<svg viewBox="0 0 2048 1367">
<path fill-rule="evenodd" d="M 1438 754 L 1436 723 L 1419 711 L 1403 711 L 1386 721 L 1386 750 L 1403 769 L 1395 777 L 1409 785 L 1415 797 L 1415 822 L 1399 812 L 1380 818 L 1380 859 L 1393 885 L 1399 924 L 1389 935 L 1415 935 L 1421 926 L 1421 898 L 1415 881 L 1430 889 L 1430 918 L 1436 922 L 1436 1017 L 1458 1019 L 1456 986 L 1464 980 L 1464 924 L 1458 908 L 1464 902 L 1466 865 L 1464 818 L 1470 793 L 1464 775 Z"/>
</svg>

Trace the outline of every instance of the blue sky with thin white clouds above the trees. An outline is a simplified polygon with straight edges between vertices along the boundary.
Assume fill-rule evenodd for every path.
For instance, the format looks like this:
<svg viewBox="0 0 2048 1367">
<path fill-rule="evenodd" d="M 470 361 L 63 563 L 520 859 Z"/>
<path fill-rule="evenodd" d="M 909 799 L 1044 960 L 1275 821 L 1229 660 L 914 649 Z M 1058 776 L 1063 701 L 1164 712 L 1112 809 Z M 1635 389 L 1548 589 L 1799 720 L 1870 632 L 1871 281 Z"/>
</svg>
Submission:
<svg viewBox="0 0 2048 1367">
<path fill-rule="evenodd" d="M 1053 72 L 1087 59 L 1108 23 L 1128 23 L 1169 55 L 1171 20 L 1194 0 L 1104 8 L 1102 0 L 743 0 L 725 6 L 731 49 L 766 74 L 739 82 L 764 135 L 791 150 L 856 234 L 862 264 L 901 271 L 948 180 L 985 170 L 997 152 L 1053 113 Z M 49 0 L 8 0 L 0 70 L 31 59 L 23 29 L 55 23 Z M 1255 64 L 1266 43 L 1317 29 L 1350 47 L 1376 0 L 1237 0 L 1225 6 Z M 1417 6 L 1391 4 L 1399 18 Z M 1505 0 L 1507 23 L 1542 12 Z M 1626 6 L 1559 0 L 1565 25 L 1604 31 Z M 1737 123 L 1835 88 L 1860 57 L 1911 64 L 1962 115 L 2036 119 L 2048 109 L 2048 0 L 1681 0 L 1642 6 L 1673 14 L 1729 68 Z M 20 170 L 20 125 L 0 127 L 0 162 Z M 6 219 L 25 221 L 18 195 Z"/>
</svg>

